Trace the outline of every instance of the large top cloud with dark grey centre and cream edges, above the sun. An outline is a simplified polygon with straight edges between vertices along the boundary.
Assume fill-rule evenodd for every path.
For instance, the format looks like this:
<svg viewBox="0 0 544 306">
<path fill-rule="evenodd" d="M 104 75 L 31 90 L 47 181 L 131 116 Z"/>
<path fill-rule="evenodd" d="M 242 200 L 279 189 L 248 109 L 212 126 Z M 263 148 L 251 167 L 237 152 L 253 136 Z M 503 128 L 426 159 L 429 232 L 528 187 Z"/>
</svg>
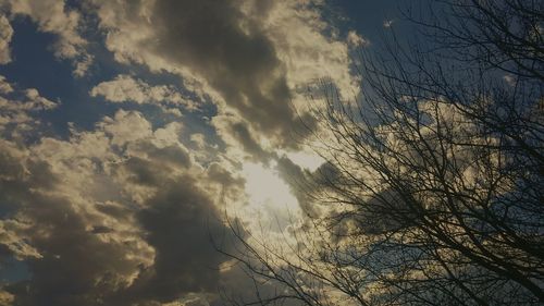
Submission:
<svg viewBox="0 0 544 306">
<path fill-rule="evenodd" d="M 305 117 L 304 94 L 320 78 L 345 95 L 357 88 L 347 44 L 324 34 L 330 25 L 310 2 L 91 2 L 119 62 L 178 74 L 186 88 L 211 97 L 220 115 L 247 125 L 261 147 L 299 146 L 293 131 L 308 131 L 295 107 Z"/>
</svg>

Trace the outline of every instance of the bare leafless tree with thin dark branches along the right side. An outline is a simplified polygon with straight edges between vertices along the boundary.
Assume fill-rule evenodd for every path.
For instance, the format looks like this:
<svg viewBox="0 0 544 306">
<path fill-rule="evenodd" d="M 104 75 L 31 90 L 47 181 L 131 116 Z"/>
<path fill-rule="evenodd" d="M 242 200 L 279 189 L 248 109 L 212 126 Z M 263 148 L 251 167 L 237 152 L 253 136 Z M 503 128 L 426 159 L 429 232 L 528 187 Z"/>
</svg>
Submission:
<svg viewBox="0 0 544 306">
<path fill-rule="evenodd" d="M 324 86 L 327 162 L 285 245 L 232 224 L 257 293 L 240 304 L 544 304 L 544 2 L 429 10 L 405 11 L 424 44 L 361 52 L 357 101 Z"/>
</svg>

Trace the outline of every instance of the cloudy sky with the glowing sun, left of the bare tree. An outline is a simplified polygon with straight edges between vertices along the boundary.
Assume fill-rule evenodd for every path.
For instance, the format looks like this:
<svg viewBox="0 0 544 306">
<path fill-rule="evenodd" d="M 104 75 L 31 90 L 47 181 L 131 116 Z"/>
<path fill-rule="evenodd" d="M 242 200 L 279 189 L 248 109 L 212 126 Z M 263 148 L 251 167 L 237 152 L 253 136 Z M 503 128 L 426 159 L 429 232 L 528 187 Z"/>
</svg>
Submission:
<svg viewBox="0 0 544 306">
<path fill-rule="evenodd" d="M 0 0 L 0 305 L 250 291 L 212 240 L 280 241 L 310 209 L 309 107 L 323 79 L 360 95 L 357 52 L 410 35 L 398 5 Z"/>
</svg>

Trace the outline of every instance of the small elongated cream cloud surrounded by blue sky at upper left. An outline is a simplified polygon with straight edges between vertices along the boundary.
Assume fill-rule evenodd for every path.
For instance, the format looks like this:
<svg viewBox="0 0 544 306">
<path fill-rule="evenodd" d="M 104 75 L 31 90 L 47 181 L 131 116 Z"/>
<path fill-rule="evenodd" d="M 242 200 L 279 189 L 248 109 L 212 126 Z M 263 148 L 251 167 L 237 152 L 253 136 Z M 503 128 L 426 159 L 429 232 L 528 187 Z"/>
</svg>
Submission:
<svg viewBox="0 0 544 306">
<path fill-rule="evenodd" d="M 118 75 L 112 81 L 101 82 L 92 89 L 91 97 L 102 96 L 110 102 L 132 101 L 143 103 L 181 105 L 189 110 L 196 109 L 193 101 L 185 99 L 173 86 L 151 86 L 129 75 Z"/>
</svg>

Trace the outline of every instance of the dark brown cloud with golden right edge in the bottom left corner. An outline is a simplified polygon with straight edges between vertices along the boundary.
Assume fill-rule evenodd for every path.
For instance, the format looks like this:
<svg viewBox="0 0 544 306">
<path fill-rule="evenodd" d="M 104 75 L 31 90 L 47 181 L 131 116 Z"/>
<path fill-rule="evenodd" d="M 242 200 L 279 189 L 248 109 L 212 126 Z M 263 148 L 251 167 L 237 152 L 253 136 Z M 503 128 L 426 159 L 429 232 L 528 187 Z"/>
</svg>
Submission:
<svg viewBox="0 0 544 306">
<path fill-rule="evenodd" d="M 17 213 L 14 220 L 21 218 L 28 225 L 17 231 L 20 243 L 30 244 L 40 254 L 25 259 L 32 279 L 5 287 L 16 296 L 15 305 L 97 305 L 138 264 L 124 258 L 123 245 L 104 244 L 89 233 L 86 220 L 65 197 L 40 192 L 60 179 L 48 167 L 24 164 L 13 156 L 5 164 L 8 160 L 0 159 L 4 173 L 0 203 L 12 204 Z M 26 175 L 17 168 L 25 169 Z"/>
</svg>

